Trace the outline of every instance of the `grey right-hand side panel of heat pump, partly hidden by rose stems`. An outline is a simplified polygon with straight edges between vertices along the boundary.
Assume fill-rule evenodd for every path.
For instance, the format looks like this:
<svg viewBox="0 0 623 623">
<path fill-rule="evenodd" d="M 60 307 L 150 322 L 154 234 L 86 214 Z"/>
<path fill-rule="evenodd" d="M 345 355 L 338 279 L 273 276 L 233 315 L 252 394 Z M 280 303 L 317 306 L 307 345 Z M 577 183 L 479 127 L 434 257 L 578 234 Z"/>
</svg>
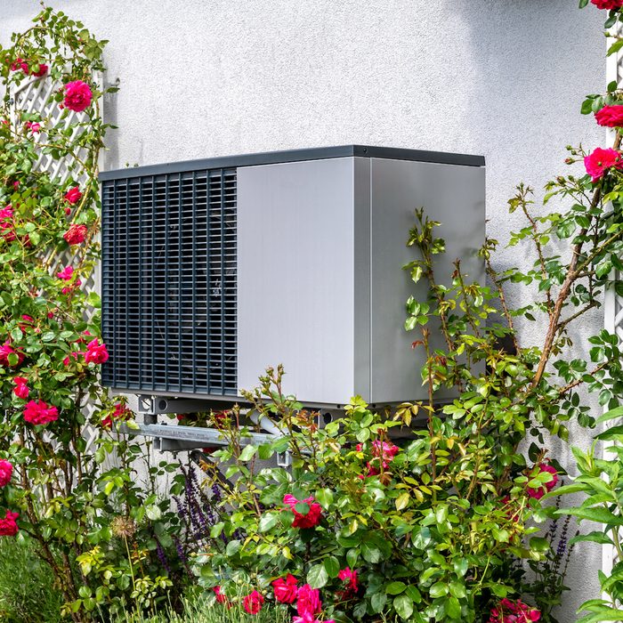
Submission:
<svg viewBox="0 0 623 623">
<path fill-rule="evenodd" d="M 447 252 L 436 267 L 437 281 L 449 284 L 452 262 L 461 259 L 470 280 L 484 282 L 484 267 L 476 252 L 485 235 L 484 167 L 441 165 L 371 158 L 372 272 L 371 272 L 371 401 L 424 400 L 420 369 L 425 356 L 411 343 L 418 329 L 407 332 L 405 301 L 409 295 L 425 301 L 427 284 L 417 286 L 401 267 L 418 257 L 406 247 L 414 209 L 424 206 L 441 222 L 438 236 Z M 438 326 L 429 324 L 433 348 L 443 340 Z M 438 400 L 450 394 L 439 392 Z"/>
</svg>

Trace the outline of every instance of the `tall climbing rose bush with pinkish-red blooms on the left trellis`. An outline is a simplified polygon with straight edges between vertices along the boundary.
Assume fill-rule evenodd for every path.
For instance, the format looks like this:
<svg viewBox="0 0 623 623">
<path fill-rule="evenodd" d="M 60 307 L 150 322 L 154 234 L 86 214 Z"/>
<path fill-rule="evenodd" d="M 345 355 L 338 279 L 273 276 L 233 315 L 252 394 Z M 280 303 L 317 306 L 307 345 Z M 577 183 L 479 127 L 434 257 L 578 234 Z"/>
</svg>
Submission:
<svg viewBox="0 0 623 623">
<path fill-rule="evenodd" d="M 81 289 L 100 257 L 101 97 L 116 91 L 93 81 L 104 45 L 44 8 L 0 48 L 0 538 L 33 541 L 75 623 L 178 605 L 182 590 L 179 522 L 150 481 L 164 467 L 136 478 L 145 450 L 117 435 L 134 414 L 99 383 L 100 299 Z M 12 101 L 31 80 L 55 114 Z"/>
</svg>

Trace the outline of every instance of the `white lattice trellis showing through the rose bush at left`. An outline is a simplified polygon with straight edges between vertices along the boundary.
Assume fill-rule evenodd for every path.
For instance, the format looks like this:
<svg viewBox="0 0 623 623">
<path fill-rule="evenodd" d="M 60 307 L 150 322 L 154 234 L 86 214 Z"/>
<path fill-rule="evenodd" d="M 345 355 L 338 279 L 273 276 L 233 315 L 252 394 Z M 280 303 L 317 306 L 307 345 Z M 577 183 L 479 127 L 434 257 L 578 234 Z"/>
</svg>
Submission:
<svg viewBox="0 0 623 623">
<path fill-rule="evenodd" d="M 101 75 L 94 76 L 96 83 L 101 85 Z M 74 142 L 79 138 L 80 134 L 85 132 L 85 127 L 80 122 L 87 118 L 82 113 L 74 112 L 69 109 L 61 109 L 59 103 L 54 101 L 53 95 L 62 88 L 59 82 L 45 75 L 40 78 L 31 78 L 24 80 L 19 86 L 13 87 L 11 92 L 12 99 L 12 118 L 11 124 L 13 128 L 20 131 L 21 116 L 23 113 L 36 113 L 41 119 L 41 132 L 34 134 L 34 140 L 44 145 L 48 139 L 48 132 L 51 129 L 63 131 L 73 126 L 69 135 L 69 141 Z M 100 89 L 101 91 L 101 89 Z M 53 158 L 51 154 L 43 153 L 41 150 L 39 158 L 34 168 L 38 171 L 46 171 L 53 180 L 58 182 L 67 182 L 73 178 L 79 186 L 84 186 L 86 182 L 85 174 L 80 174 L 80 167 L 77 160 L 72 157 Z M 83 160 L 86 154 L 85 148 L 78 147 L 75 156 Z M 59 270 L 61 266 L 69 265 L 72 255 L 69 250 L 65 254 L 57 254 L 50 251 L 49 255 L 44 257 L 50 265 L 52 273 Z M 83 283 L 80 287 L 85 293 L 101 292 L 100 287 L 100 268 L 99 266 L 90 275 L 82 279 Z M 85 320 L 92 320 L 93 313 L 86 314 Z M 85 407 L 85 415 L 87 417 L 93 414 L 93 407 L 87 404 Z M 85 429 L 85 438 L 87 447 L 93 444 L 97 437 L 97 432 L 92 428 Z"/>
</svg>

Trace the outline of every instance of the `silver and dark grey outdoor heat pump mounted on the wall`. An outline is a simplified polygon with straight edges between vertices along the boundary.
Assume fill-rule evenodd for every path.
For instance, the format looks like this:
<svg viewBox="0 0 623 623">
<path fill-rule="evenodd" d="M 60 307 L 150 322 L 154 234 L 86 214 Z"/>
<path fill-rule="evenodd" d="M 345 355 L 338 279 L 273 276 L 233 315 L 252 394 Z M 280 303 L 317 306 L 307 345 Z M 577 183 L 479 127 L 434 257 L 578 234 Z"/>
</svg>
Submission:
<svg viewBox="0 0 623 623">
<path fill-rule="evenodd" d="M 404 303 L 427 285 L 401 270 L 416 208 L 441 223 L 439 279 L 456 258 L 483 279 L 481 157 L 281 151 L 102 173 L 101 192 L 102 377 L 119 392 L 231 402 L 282 363 L 310 406 L 425 399 Z"/>
</svg>

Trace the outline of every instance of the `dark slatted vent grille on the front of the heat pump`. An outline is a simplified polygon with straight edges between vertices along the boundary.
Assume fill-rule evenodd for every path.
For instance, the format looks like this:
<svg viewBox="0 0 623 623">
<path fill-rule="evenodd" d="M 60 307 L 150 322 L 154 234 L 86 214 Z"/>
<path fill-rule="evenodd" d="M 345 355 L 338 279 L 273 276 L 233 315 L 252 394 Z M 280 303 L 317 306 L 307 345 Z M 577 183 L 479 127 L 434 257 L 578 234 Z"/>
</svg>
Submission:
<svg viewBox="0 0 623 623">
<path fill-rule="evenodd" d="M 102 182 L 103 383 L 237 393 L 236 169 Z"/>
</svg>

